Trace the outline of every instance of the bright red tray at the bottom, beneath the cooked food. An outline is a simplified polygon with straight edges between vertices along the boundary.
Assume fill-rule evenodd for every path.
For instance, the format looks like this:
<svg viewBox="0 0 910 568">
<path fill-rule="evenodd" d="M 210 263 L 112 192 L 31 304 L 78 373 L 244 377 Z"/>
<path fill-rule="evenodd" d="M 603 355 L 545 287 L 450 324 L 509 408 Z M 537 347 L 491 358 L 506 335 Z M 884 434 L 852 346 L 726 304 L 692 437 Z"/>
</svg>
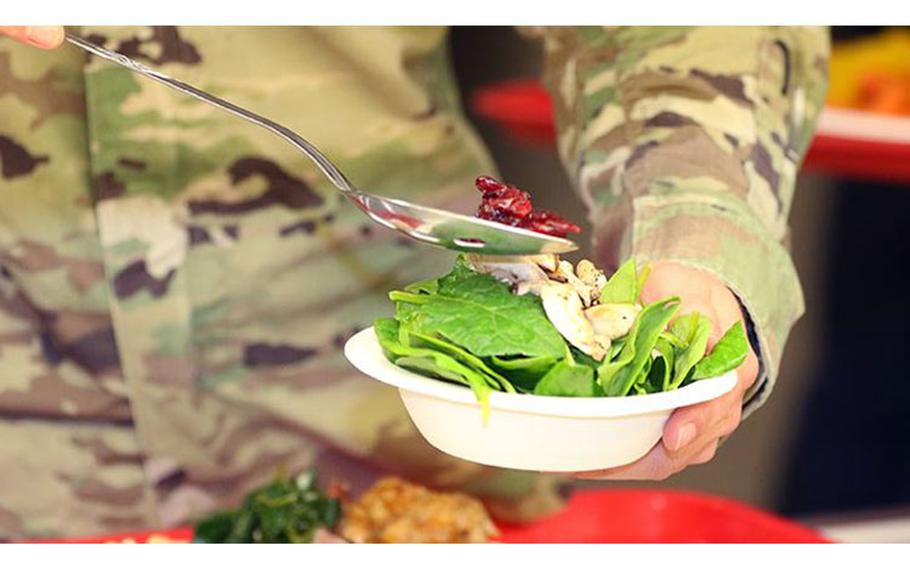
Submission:
<svg viewBox="0 0 910 568">
<path fill-rule="evenodd" d="M 688 491 L 577 491 L 559 514 L 500 523 L 504 543 L 825 543 L 816 531 L 730 499 Z M 41 542 L 191 542 L 193 531 L 125 533 Z"/>
</svg>

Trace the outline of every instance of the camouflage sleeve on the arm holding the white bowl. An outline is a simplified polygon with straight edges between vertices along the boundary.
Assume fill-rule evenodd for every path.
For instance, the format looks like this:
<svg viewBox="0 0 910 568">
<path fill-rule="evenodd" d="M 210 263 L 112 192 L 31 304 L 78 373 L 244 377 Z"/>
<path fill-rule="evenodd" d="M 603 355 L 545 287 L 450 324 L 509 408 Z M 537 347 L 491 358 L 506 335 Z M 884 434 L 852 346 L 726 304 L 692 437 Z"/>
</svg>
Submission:
<svg viewBox="0 0 910 568">
<path fill-rule="evenodd" d="M 720 277 L 754 327 L 766 399 L 804 311 L 786 248 L 797 170 L 827 88 L 806 27 L 547 28 L 558 147 L 609 265 L 634 255 Z"/>
</svg>

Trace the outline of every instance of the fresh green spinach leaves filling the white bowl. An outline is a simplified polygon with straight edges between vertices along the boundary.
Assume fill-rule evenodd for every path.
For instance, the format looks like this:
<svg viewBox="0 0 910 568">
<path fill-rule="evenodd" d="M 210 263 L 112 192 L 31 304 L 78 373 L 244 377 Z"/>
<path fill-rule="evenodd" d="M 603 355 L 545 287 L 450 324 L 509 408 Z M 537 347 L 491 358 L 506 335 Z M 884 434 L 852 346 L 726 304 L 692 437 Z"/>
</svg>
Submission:
<svg viewBox="0 0 910 568">
<path fill-rule="evenodd" d="M 599 302 L 640 305 L 648 268 L 624 263 L 600 289 Z M 460 256 L 452 271 L 389 294 L 395 317 L 375 322 L 390 361 L 416 373 L 470 387 L 486 407 L 492 391 L 541 396 L 628 396 L 677 389 L 738 367 L 748 343 L 741 323 L 707 351 L 710 320 L 677 316 L 676 297 L 635 308 L 624 334 L 601 361 L 569 344 L 536 294 L 476 272 Z M 675 319 L 674 319 L 675 318 Z M 625 330 L 628 330 L 625 332 Z"/>
</svg>

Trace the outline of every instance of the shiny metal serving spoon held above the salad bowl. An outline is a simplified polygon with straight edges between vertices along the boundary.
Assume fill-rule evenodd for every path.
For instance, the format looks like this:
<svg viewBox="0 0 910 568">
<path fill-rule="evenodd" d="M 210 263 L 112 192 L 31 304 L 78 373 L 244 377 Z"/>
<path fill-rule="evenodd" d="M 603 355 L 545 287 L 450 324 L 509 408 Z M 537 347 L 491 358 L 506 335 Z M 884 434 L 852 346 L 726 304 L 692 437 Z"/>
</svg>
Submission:
<svg viewBox="0 0 910 568">
<path fill-rule="evenodd" d="M 565 253 L 578 248 L 575 243 L 568 239 L 551 237 L 492 221 L 360 191 L 313 144 L 289 128 L 199 90 L 192 85 L 172 79 L 163 73 L 133 61 L 125 55 L 98 47 L 80 37 L 67 33 L 66 41 L 98 57 L 118 63 L 140 75 L 149 77 L 159 83 L 164 83 L 172 89 L 244 118 L 284 138 L 313 160 L 335 187 L 354 205 L 359 207 L 361 211 L 366 213 L 370 219 L 422 243 L 449 250 L 491 255 Z"/>
</svg>

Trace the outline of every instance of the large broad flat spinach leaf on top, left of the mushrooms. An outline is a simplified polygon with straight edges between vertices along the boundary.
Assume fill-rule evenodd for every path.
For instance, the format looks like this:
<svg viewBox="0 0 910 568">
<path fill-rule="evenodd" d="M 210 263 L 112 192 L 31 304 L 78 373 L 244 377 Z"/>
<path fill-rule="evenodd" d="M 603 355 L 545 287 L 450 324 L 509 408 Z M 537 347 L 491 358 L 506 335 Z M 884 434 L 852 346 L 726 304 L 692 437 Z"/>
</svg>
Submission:
<svg viewBox="0 0 910 568">
<path fill-rule="evenodd" d="M 434 295 L 407 314 L 409 327 L 439 335 L 477 357 L 562 357 L 565 341 L 540 298 L 517 296 L 507 284 L 456 264 Z"/>
</svg>

